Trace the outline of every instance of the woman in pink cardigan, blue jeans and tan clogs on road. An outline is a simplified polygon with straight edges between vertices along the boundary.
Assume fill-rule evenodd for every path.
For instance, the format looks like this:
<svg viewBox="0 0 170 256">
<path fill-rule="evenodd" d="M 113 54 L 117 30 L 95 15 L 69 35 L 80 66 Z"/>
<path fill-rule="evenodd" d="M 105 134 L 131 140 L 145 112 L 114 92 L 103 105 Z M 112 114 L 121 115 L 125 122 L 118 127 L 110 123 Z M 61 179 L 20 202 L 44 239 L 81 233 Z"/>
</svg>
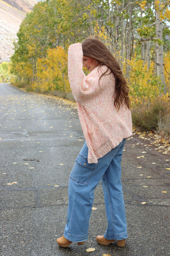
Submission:
<svg viewBox="0 0 170 256">
<path fill-rule="evenodd" d="M 87 76 L 83 66 L 90 71 Z M 57 243 L 67 247 L 88 239 L 94 190 L 101 180 L 108 227 L 96 237 L 97 243 L 117 240 L 123 247 L 128 236 L 121 158 L 126 138 L 132 135 L 129 88 L 118 62 L 96 38 L 70 45 L 68 70 L 85 144 L 70 173 L 67 224 Z"/>
</svg>

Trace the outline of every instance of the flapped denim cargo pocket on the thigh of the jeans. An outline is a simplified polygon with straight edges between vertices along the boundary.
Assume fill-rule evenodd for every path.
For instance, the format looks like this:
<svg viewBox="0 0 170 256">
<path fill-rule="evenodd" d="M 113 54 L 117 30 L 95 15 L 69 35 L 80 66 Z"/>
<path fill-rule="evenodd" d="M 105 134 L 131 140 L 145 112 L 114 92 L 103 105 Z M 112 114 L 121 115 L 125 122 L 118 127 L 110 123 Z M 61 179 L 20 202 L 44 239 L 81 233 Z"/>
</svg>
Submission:
<svg viewBox="0 0 170 256">
<path fill-rule="evenodd" d="M 87 158 L 79 154 L 70 173 L 70 179 L 76 181 L 77 183 L 88 185 L 97 164 L 98 163 L 89 164 Z"/>
</svg>

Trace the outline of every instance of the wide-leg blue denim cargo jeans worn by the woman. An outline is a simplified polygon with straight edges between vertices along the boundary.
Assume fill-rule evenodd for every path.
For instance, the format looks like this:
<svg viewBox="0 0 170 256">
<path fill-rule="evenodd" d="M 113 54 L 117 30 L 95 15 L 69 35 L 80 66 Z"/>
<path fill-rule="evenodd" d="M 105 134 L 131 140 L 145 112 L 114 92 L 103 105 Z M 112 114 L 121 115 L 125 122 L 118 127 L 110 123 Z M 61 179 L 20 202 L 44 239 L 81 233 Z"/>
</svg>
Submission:
<svg viewBox="0 0 170 256">
<path fill-rule="evenodd" d="M 75 160 L 69 179 L 69 205 L 64 237 L 72 242 L 88 239 L 89 219 L 94 200 L 94 190 L 102 181 L 107 214 L 106 239 L 127 238 L 124 200 L 121 182 L 122 150 L 126 139 L 98 163 L 88 164 L 86 142 Z"/>
</svg>

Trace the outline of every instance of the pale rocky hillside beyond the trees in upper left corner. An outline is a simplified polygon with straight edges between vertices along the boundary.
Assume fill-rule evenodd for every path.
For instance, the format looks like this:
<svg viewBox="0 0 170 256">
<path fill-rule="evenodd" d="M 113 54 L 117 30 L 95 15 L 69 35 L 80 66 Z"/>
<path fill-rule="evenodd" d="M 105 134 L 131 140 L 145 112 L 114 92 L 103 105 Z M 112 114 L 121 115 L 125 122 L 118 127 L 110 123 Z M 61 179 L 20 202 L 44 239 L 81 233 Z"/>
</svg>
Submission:
<svg viewBox="0 0 170 256">
<path fill-rule="evenodd" d="M 19 26 L 36 3 L 35 0 L 0 0 L 0 63 L 10 61 Z"/>
</svg>

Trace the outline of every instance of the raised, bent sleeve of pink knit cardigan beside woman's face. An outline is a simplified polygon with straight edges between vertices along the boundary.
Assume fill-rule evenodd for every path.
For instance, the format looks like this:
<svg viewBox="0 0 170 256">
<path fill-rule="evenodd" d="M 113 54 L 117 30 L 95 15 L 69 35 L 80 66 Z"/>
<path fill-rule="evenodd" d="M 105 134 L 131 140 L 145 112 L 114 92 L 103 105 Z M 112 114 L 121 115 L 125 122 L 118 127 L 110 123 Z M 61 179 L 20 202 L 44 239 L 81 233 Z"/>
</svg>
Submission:
<svg viewBox="0 0 170 256">
<path fill-rule="evenodd" d="M 100 88 L 98 69 L 95 68 L 88 76 L 85 76 L 82 68 L 82 45 L 71 44 L 68 51 L 69 82 L 73 96 L 80 104 L 94 97 Z"/>
</svg>

